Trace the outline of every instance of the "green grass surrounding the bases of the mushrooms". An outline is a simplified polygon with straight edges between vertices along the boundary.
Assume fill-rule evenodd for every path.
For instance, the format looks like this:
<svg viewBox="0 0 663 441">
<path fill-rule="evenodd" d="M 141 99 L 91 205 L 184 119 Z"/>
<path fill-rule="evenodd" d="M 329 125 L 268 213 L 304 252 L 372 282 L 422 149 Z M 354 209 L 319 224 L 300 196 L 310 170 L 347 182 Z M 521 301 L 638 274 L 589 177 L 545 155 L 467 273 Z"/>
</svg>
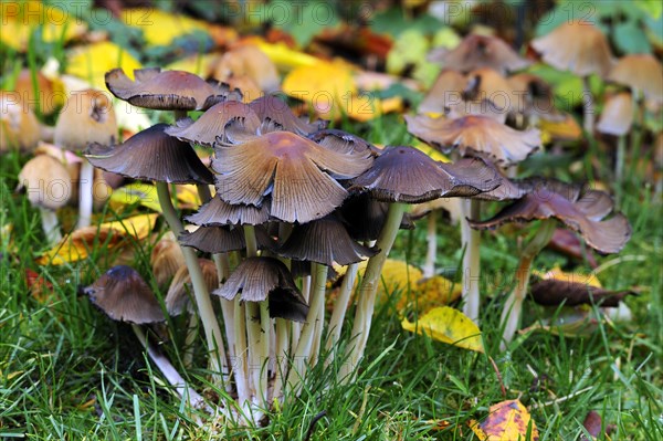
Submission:
<svg viewBox="0 0 663 441">
<path fill-rule="evenodd" d="M 392 139 L 376 139 L 383 133 L 367 136 L 407 141 L 402 130 L 392 133 L 397 134 Z M 160 374 L 151 370 L 130 329 L 110 322 L 77 294 L 78 285 L 90 284 L 112 265 L 113 255 L 103 244 L 95 245 L 90 260 L 64 267 L 34 263 L 44 250 L 39 213 L 23 196 L 13 193 L 15 176 L 27 159 L 10 154 L 0 168 L 0 219 L 13 225 L 11 248 L 3 238 L 0 249 L 0 438 L 303 440 L 311 421 L 324 411 L 312 439 L 470 440 L 476 439 L 469 429 L 471 420 L 481 421 L 490 406 L 513 398 L 530 408 L 541 440 L 577 439 L 589 410 L 614 427 L 613 440 L 663 437 L 661 203 L 648 191 L 625 192 L 623 209 L 633 238 L 617 256 L 645 261 L 627 259 L 600 274 L 607 287 L 641 291 L 627 300 L 633 311 L 631 322 L 601 324 L 582 338 L 538 333 L 499 353 L 498 317 L 509 271 L 516 265 L 516 240 L 486 234 L 482 245 L 485 355 L 403 332 L 393 302 L 386 302 L 376 312 L 356 382 L 335 384 L 337 367 L 317 369 L 302 396 L 271 416 L 269 427 L 233 429 L 212 419 L 199 428 L 164 386 Z M 440 241 L 440 266 L 457 266 L 456 229 L 441 225 Z M 149 277 L 149 248 L 136 246 L 135 266 Z M 393 255 L 419 264 L 423 258 L 419 250 L 424 246 L 424 225 L 420 225 L 401 232 Z M 555 263 L 570 264 L 544 252 L 536 266 L 549 269 Z M 45 302 L 30 294 L 27 269 L 53 284 Z M 527 323 L 551 314 L 533 305 L 527 308 Z M 178 359 L 172 345 L 165 346 Z M 199 390 L 206 387 L 204 369 L 187 375 Z M 214 399 L 213 390 L 206 391 Z M 449 424 L 435 430 L 440 421 Z"/>
</svg>

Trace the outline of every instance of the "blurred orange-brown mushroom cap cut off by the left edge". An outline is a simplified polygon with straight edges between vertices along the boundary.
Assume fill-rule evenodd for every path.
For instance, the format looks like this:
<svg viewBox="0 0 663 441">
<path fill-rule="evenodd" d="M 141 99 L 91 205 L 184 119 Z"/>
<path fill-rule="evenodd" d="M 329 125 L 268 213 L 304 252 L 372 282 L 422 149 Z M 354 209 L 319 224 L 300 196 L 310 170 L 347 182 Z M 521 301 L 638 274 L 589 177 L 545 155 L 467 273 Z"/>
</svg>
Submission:
<svg viewBox="0 0 663 441">
<path fill-rule="evenodd" d="M 40 125 L 15 92 L 0 91 L 0 154 L 11 148 L 34 149 L 40 139 Z"/>
</svg>

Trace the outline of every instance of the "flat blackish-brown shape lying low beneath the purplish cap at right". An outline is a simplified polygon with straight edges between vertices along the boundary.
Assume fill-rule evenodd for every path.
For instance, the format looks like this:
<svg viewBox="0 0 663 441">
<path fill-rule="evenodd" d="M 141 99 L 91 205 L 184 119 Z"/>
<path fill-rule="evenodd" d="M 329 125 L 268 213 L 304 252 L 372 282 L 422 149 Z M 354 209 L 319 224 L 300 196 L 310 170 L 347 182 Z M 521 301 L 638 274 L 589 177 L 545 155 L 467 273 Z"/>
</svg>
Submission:
<svg viewBox="0 0 663 441">
<path fill-rule="evenodd" d="M 532 298 L 539 305 L 565 306 L 591 305 L 618 307 L 632 291 L 609 291 L 582 282 L 540 280 L 532 284 Z"/>
</svg>

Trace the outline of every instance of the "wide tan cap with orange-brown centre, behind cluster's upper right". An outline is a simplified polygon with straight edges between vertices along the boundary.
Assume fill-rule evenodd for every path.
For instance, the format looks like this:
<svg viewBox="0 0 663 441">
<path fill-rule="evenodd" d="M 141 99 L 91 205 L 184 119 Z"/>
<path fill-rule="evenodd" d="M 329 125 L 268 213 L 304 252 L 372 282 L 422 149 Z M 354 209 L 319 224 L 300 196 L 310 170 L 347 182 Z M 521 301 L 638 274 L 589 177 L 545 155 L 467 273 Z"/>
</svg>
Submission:
<svg viewBox="0 0 663 441">
<path fill-rule="evenodd" d="M 450 151 L 457 148 L 461 156 L 485 155 L 501 166 L 520 162 L 541 145 L 537 129 L 524 132 L 482 115 L 457 119 L 406 115 L 408 130 L 427 144 Z"/>
</svg>

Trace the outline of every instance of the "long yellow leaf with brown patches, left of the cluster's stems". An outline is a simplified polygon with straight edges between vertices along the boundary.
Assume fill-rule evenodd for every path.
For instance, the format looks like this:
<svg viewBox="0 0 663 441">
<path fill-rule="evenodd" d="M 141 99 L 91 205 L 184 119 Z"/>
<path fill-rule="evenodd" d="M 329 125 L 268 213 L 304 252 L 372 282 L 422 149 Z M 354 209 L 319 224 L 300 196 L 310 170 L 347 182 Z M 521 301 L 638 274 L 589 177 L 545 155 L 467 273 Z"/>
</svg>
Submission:
<svg viewBox="0 0 663 441">
<path fill-rule="evenodd" d="M 110 250 L 133 240 L 143 240 L 155 228 L 158 214 L 139 214 L 120 221 L 102 223 L 98 227 L 86 227 L 66 235 L 60 243 L 36 259 L 40 265 L 62 265 L 87 259 L 95 243 L 104 244 Z"/>
</svg>

